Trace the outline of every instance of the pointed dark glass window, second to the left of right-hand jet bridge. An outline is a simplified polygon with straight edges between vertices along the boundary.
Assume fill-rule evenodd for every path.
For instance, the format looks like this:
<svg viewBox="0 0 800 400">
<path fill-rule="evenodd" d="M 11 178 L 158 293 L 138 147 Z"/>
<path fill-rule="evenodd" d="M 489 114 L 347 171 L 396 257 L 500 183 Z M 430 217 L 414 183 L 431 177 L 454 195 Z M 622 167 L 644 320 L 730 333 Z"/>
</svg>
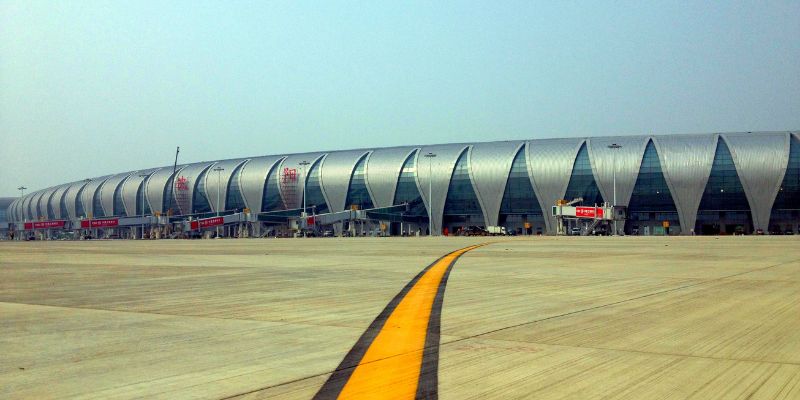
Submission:
<svg viewBox="0 0 800 400">
<path fill-rule="evenodd" d="M 469 177 L 468 153 L 469 149 L 464 150 L 456 161 L 444 202 L 443 227 L 451 230 L 466 228 L 468 225 L 483 225 L 481 205 Z"/>
</svg>

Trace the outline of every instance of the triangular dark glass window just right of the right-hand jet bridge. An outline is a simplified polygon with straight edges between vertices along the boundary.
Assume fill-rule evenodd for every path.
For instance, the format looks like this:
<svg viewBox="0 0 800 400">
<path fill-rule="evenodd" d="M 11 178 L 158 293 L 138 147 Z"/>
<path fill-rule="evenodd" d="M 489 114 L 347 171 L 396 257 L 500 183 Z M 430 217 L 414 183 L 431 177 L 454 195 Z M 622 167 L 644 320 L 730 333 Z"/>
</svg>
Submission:
<svg viewBox="0 0 800 400">
<path fill-rule="evenodd" d="M 667 180 L 664 179 L 658 152 L 652 141 L 648 142 L 645 148 L 631 201 L 628 203 L 629 221 L 651 219 L 669 221 L 673 226 L 679 224 L 678 209 L 667 186 Z"/>
</svg>

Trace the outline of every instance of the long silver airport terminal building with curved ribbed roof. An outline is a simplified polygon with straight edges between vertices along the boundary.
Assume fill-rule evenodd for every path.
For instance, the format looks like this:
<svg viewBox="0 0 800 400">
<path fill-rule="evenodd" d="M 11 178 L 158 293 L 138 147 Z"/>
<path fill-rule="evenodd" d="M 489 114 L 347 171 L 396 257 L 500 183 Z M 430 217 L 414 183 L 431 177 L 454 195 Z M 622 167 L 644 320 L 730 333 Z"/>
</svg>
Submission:
<svg viewBox="0 0 800 400">
<path fill-rule="evenodd" d="M 618 228 L 626 234 L 797 233 L 800 133 L 458 143 L 178 164 L 27 193 L 7 218 L 16 232 L 48 235 L 220 227 L 231 236 L 299 228 L 424 235 L 489 226 L 553 234 L 551 210 L 562 199 L 626 207 Z"/>
</svg>

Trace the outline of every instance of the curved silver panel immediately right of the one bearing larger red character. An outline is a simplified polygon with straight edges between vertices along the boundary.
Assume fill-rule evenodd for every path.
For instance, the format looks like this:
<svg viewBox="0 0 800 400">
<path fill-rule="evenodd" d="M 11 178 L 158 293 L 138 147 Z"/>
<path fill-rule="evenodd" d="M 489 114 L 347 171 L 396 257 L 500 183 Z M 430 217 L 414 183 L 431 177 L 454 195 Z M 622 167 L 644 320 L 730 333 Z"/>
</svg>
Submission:
<svg viewBox="0 0 800 400">
<path fill-rule="evenodd" d="M 337 151 L 325 157 L 320 168 L 320 181 L 331 211 L 344 210 L 350 177 L 353 176 L 356 163 L 364 156 L 368 156 L 366 150 Z"/>
</svg>

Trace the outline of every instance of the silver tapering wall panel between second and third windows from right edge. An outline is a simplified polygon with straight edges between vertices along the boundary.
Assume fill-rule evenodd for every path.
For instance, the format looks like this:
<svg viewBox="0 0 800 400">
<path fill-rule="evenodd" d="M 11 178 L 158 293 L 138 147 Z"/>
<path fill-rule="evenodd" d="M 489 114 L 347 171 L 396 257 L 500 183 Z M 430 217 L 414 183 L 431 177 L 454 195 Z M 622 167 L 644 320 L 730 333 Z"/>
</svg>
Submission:
<svg viewBox="0 0 800 400">
<path fill-rule="evenodd" d="M 653 137 L 682 227 L 694 228 L 697 209 L 711 174 L 717 138 L 717 134 Z"/>
</svg>

